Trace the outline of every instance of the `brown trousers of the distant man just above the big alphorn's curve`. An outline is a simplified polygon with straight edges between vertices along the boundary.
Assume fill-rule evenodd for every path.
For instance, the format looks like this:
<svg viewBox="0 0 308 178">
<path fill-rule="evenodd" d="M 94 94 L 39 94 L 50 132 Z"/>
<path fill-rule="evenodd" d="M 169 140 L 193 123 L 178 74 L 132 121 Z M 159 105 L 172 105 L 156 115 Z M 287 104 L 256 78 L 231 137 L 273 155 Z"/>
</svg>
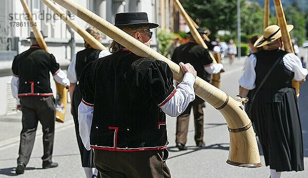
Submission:
<svg viewBox="0 0 308 178">
<path fill-rule="evenodd" d="M 176 143 L 186 144 L 188 123 L 190 110 L 194 110 L 195 118 L 195 141 L 196 144 L 203 142 L 203 108 L 205 107 L 204 101 L 196 96 L 196 99 L 189 103 L 186 110 L 177 117 L 177 133 L 176 133 Z"/>
</svg>

